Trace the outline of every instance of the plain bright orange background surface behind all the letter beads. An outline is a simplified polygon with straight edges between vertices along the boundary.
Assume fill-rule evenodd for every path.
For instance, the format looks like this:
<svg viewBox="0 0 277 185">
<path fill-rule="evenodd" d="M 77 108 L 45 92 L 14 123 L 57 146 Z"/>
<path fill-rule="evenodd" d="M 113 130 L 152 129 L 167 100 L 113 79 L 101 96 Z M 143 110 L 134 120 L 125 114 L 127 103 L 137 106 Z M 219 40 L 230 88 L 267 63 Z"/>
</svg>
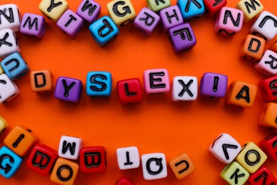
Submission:
<svg viewBox="0 0 277 185">
<path fill-rule="evenodd" d="M 107 3 L 100 16 L 108 15 Z M 81 0 L 67 0 L 76 11 Z M 238 1 L 228 1 L 234 7 Z M 276 1 L 264 0 L 264 10 L 277 14 Z M 1 4 L 14 3 L 21 14 L 41 14 L 40 1 L 1 0 Z M 171 4 L 175 4 L 173 1 Z M 132 1 L 136 14 L 146 1 Z M 44 38 L 40 41 L 17 33 L 22 56 L 31 70 L 49 69 L 54 85 L 58 77 L 82 80 L 84 84 L 79 104 L 56 100 L 53 93 L 31 91 L 29 74 L 16 80 L 20 95 L 0 107 L 0 115 L 11 126 L 24 125 L 38 135 L 40 143 L 58 150 L 62 135 L 81 137 L 84 147 L 102 145 L 107 148 L 107 171 L 102 174 L 79 173 L 76 184 L 114 184 L 127 176 L 135 184 L 224 184 L 219 172 L 224 164 L 210 154 L 208 147 L 222 132 L 231 134 L 240 144 L 259 143 L 275 132 L 258 125 L 264 100 L 258 92 L 254 106 L 244 110 L 225 104 L 225 100 L 211 100 L 198 96 L 195 102 L 172 102 L 170 94 L 146 96 L 134 105 L 122 106 L 116 93 L 116 82 L 127 78 L 140 78 L 143 71 L 166 68 L 170 81 L 177 75 L 194 75 L 198 86 L 205 72 L 222 73 L 233 80 L 257 85 L 266 78 L 254 63 L 239 58 L 239 48 L 254 20 L 245 23 L 241 32 L 233 37 L 214 32 L 214 18 L 207 14 L 190 21 L 197 44 L 191 50 L 176 55 L 161 23 L 151 37 L 146 37 L 134 25 L 120 29 L 119 36 L 105 48 L 100 48 L 89 33 L 88 25 L 75 39 L 63 34 L 49 19 Z M 276 39 L 275 39 L 276 40 Z M 272 42 L 271 42 L 272 43 Z M 267 44 L 267 47 L 270 46 Z M 112 73 L 112 97 L 92 98 L 85 93 L 85 80 L 89 71 L 105 70 Z M 146 181 L 139 169 L 120 171 L 116 162 L 116 148 L 136 146 L 140 155 L 163 152 L 167 161 L 180 153 L 187 153 L 195 171 L 183 180 L 177 180 L 168 167 L 165 179 Z M 277 176 L 277 164 L 267 161 L 266 166 Z M 26 166 L 26 159 L 11 179 L 0 177 L 1 184 L 51 184 L 50 175 L 41 176 Z"/>
</svg>

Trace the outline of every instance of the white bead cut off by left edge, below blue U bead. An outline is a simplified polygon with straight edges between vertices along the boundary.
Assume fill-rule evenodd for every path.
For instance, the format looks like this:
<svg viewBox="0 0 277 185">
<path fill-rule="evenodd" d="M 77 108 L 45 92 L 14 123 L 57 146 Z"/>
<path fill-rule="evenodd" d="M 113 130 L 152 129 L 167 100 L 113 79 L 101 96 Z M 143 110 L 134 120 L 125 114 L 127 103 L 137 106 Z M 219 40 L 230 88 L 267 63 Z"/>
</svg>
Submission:
<svg viewBox="0 0 277 185">
<path fill-rule="evenodd" d="M 19 94 L 16 85 L 6 74 L 0 75 L 0 104 L 8 102 Z"/>
</svg>

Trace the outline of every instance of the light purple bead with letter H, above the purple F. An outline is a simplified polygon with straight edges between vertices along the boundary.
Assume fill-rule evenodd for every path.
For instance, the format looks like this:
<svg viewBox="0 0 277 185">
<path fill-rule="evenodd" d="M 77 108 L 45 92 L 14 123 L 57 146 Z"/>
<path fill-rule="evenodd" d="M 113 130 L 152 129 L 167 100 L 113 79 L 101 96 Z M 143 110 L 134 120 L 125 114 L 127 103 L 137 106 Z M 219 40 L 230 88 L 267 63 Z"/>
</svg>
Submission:
<svg viewBox="0 0 277 185">
<path fill-rule="evenodd" d="M 179 6 L 177 5 L 162 9 L 160 11 L 160 16 L 165 32 L 167 32 L 169 28 L 173 28 L 184 22 Z"/>
</svg>

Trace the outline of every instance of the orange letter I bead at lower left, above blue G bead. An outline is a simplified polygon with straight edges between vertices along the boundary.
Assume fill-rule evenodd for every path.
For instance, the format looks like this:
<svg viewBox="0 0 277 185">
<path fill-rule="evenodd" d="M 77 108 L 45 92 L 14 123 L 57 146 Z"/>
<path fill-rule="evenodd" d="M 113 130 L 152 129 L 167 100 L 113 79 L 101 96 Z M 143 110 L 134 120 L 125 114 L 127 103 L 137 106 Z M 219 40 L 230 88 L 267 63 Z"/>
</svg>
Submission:
<svg viewBox="0 0 277 185">
<path fill-rule="evenodd" d="M 25 157 L 33 144 L 38 141 L 37 137 L 32 133 L 31 129 L 23 126 L 16 126 L 11 129 L 4 139 L 4 144 L 20 157 Z"/>
</svg>

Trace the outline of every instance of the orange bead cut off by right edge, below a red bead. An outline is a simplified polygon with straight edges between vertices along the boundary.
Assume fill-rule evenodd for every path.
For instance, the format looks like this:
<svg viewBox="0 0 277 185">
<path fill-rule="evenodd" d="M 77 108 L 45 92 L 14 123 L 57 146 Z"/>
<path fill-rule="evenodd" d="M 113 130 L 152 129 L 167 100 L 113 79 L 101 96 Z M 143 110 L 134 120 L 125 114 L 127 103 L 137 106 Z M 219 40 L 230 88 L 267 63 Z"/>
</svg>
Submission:
<svg viewBox="0 0 277 185">
<path fill-rule="evenodd" d="M 277 129 L 277 103 L 268 102 L 261 110 L 259 125 Z"/>
</svg>

